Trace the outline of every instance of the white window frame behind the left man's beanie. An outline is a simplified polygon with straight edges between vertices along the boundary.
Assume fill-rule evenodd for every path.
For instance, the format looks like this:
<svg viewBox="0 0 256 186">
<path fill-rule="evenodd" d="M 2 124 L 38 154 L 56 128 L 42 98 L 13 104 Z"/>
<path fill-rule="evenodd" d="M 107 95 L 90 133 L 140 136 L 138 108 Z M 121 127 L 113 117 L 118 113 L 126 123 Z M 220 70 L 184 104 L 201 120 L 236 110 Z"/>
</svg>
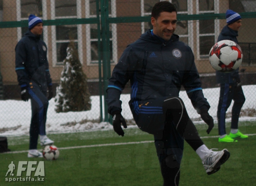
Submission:
<svg viewBox="0 0 256 186">
<path fill-rule="evenodd" d="M 28 20 L 27 18 L 21 18 L 21 0 L 16 0 L 16 17 L 17 17 L 17 21 L 23 21 L 23 20 Z M 46 0 L 42 0 L 42 14 L 43 17 L 40 17 L 40 19 L 43 20 L 47 20 L 47 5 L 46 5 Z M 28 26 L 28 25 L 27 25 Z M 48 46 L 48 30 L 47 30 L 47 26 L 43 26 L 43 30 L 44 30 L 44 42 L 46 44 L 46 46 Z M 22 38 L 22 33 L 21 33 L 21 27 L 17 27 L 17 41 L 21 40 Z M 47 53 L 47 57 L 48 57 L 48 53 Z"/>
</svg>

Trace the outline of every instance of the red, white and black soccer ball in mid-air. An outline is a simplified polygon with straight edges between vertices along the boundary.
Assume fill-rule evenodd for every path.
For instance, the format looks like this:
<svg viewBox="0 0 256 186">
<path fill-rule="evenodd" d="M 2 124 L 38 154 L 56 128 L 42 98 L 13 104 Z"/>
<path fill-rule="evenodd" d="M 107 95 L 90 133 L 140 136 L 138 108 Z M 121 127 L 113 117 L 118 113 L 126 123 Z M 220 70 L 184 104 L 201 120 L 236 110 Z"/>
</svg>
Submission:
<svg viewBox="0 0 256 186">
<path fill-rule="evenodd" d="M 243 53 L 231 40 L 222 40 L 213 45 L 209 53 L 211 66 L 219 72 L 232 72 L 242 63 Z"/>
</svg>

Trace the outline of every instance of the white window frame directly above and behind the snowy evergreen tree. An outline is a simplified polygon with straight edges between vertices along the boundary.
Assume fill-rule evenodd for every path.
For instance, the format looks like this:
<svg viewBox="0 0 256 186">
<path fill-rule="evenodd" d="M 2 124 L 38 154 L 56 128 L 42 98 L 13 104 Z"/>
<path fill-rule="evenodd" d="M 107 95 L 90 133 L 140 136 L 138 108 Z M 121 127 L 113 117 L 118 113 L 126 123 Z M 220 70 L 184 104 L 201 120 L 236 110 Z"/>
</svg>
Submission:
<svg viewBox="0 0 256 186">
<path fill-rule="evenodd" d="M 68 19 L 68 18 L 82 18 L 81 0 L 76 0 L 76 15 L 77 16 L 55 16 L 55 0 L 51 0 L 51 19 Z M 56 26 L 51 26 L 52 30 L 52 66 L 59 67 L 63 63 L 57 61 L 57 43 L 70 42 L 70 40 L 58 40 L 56 41 Z M 83 51 L 82 51 L 82 25 L 77 25 L 77 39 L 72 40 L 77 42 L 78 45 L 78 57 L 81 64 L 83 64 Z"/>
</svg>

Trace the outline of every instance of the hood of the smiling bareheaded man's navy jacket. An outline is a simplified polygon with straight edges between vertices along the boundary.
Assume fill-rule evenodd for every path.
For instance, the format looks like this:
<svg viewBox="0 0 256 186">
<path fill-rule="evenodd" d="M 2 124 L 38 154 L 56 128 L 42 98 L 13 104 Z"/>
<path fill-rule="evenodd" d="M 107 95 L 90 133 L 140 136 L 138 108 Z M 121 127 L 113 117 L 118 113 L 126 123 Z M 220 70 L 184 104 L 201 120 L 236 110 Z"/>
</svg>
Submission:
<svg viewBox="0 0 256 186">
<path fill-rule="evenodd" d="M 152 35 L 151 34 L 151 30 L 149 29 L 146 33 L 143 33 L 139 39 L 151 42 L 151 43 L 157 43 L 157 44 L 163 44 L 163 45 L 168 45 L 168 43 L 174 42 L 174 41 L 178 41 L 179 40 L 179 36 L 176 34 L 173 34 L 171 36 L 171 39 L 168 41 L 163 40 L 162 38 L 156 36 L 156 35 Z"/>
</svg>

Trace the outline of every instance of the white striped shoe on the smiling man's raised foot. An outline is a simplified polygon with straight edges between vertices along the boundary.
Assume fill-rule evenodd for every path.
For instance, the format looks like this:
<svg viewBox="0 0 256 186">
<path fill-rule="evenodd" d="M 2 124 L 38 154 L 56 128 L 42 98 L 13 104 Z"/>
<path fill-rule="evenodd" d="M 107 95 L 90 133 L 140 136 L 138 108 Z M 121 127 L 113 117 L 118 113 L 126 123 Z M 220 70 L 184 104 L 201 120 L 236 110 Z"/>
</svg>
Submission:
<svg viewBox="0 0 256 186">
<path fill-rule="evenodd" d="M 212 151 L 212 149 L 210 149 L 209 152 L 206 153 L 202 163 L 208 175 L 217 172 L 220 169 L 220 166 L 225 163 L 230 156 L 227 149 L 223 149 L 222 151 Z"/>
</svg>

